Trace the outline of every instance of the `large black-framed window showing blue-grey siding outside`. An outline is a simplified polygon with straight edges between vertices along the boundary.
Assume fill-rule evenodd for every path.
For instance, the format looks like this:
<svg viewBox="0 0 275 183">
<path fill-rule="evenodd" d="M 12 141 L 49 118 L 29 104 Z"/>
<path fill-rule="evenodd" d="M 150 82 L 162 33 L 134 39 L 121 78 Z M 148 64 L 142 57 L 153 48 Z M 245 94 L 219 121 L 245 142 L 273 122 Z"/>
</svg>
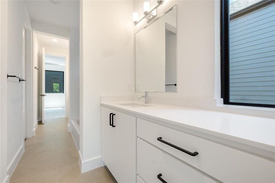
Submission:
<svg viewBox="0 0 275 183">
<path fill-rule="evenodd" d="M 224 104 L 275 107 L 275 1 L 221 1 Z"/>
</svg>

